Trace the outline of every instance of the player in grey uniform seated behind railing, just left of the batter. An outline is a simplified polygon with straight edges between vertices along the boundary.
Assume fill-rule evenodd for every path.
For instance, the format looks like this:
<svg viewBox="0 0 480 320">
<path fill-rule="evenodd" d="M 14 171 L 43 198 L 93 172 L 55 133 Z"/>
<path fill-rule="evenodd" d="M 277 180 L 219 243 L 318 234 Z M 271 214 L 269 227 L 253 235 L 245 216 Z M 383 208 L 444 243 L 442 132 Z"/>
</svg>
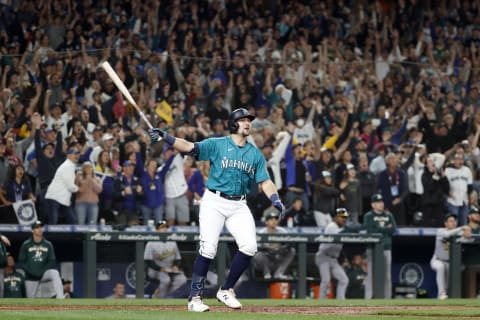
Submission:
<svg viewBox="0 0 480 320">
<path fill-rule="evenodd" d="M 167 221 L 157 222 L 158 232 L 167 232 Z M 165 298 L 187 282 L 187 277 L 180 270 L 178 264 L 181 256 L 175 241 L 149 241 L 143 255 L 150 279 L 160 281 L 158 286 L 159 298 Z"/>
</svg>

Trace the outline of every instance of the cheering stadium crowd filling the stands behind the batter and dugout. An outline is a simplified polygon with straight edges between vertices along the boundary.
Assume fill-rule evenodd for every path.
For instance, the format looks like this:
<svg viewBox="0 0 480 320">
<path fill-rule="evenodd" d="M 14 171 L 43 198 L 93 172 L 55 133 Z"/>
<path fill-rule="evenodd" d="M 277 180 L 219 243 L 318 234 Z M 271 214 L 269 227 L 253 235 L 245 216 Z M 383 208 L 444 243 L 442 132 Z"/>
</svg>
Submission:
<svg viewBox="0 0 480 320">
<path fill-rule="evenodd" d="M 104 60 L 177 137 L 255 114 L 294 225 L 361 223 L 376 192 L 399 226 L 478 204 L 478 2 L 1 3 L 3 223 L 27 199 L 50 224 L 195 222 L 208 163 L 151 145 Z M 270 201 L 248 201 L 260 221 Z"/>
</svg>

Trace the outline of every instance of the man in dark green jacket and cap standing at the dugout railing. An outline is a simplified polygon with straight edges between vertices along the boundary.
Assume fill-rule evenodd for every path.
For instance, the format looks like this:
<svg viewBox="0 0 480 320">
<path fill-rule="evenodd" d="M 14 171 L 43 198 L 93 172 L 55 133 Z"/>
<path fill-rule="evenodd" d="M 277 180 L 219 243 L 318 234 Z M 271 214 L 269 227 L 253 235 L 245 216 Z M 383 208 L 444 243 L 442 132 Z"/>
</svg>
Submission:
<svg viewBox="0 0 480 320">
<path fill-rule="evenodd" d="M 385 204 L 380 193 L 372 195 L 372 210 L 368 211 L 363 217 L 363 227 L 367 233 L 380 233 L 383 238 L 383 257 L 384 257 L 384 298 L 392 298 L 392 235 L 397 229 L 395 218 L 390 212 L 385 211 Z M 373 253 L 372 249 L 367 249 L 368 258 L 368 277 L 365 285 L 365 298 L 371 299 L 373 295 Z M 378 298 L 378 297 L 376 297 Z"/>
</svg>

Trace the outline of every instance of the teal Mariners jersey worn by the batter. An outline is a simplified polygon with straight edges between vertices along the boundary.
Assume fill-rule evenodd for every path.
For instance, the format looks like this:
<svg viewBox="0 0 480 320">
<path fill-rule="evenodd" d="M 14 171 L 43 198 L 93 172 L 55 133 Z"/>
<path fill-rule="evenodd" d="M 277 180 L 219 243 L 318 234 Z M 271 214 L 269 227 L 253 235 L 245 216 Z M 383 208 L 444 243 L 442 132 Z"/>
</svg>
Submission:
<svg viewBox="0 0 480 320">
<path fill-rule="evenodd" d="M 210 160 L 207 188 L 228 195 L 250 192 L 253 182 L 270 179 L 263 154 L 251 143 L 238 146 L 231 136 L 198 142 L 198 160 Z"/>
</svg>

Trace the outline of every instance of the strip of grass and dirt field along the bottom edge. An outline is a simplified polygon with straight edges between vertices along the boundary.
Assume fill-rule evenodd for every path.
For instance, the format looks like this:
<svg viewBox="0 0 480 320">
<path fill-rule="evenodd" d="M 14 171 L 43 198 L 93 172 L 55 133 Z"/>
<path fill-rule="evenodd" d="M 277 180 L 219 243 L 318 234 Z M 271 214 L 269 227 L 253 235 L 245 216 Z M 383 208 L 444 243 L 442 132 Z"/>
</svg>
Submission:
<svg viewBox="0 0 480 320">
<path fill-rule="evenodd" d="M 184 299 L 0 299 L 0 319 L 480 319 L 480 303 L 475 299 L 241 301 L 244 310 L 227 311 L 216 300 L 206 299 L 205 302 L 210 306 L 211 312 L 199 314 L 187 312 Z M 309 314 L 303 314 L 302 311 L 308 311 Z"/>
</svg>

